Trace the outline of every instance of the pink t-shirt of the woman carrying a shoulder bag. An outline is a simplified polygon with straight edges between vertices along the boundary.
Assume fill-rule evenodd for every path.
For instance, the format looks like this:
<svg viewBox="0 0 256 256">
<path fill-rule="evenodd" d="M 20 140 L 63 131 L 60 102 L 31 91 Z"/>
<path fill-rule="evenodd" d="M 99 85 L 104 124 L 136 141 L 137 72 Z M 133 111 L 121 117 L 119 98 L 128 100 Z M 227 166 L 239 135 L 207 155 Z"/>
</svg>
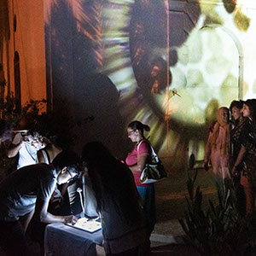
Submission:
<svg viewBox="0 0 256 256">
<path fill-rule="evenodd" d="M 147 141 L 143 141 L 139 145 L 139 150 L 137 150 L 138 147 L 135 147 L 131 150 L 131 153 L 129 153 L 125 159 L 127 166 L 134 166 L 137 164 L 137 156 L 139 154 L 146 153 L 148 155 L 152 154 L 152 150 L 150 147 L 150 144 Z M 140 182 L 141 173 L 140 172 L 132 172 L 134 176 L 134 181 L 137 187 L 147 187 L 150 184 L 142 184 Z"/>
</svg>

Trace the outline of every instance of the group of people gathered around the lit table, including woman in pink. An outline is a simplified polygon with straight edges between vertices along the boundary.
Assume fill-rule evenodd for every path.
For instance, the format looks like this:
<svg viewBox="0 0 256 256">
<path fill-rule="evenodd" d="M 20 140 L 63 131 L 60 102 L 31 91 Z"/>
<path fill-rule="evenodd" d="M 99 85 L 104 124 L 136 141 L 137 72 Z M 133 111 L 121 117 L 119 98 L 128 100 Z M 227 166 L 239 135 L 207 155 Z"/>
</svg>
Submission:
<svg viewBox="0 0 256 256">
<path fill-rule="evenodd" d="M 10 134 L 3 121 L 0 125 L 0 135 Z M 135 146 L 125 162 L 116 159 L 100 142 L 85 144 L 79 157 L 52 137 L 44 137 L 38 131 L 21 135 L 22 129 L 15 133 L 7 150 L 9 157 L 19 155 L 17 170 L 0 183 L 0 246 L 4 251 L 8 255 L 32 255 L 25 239 L 32 218 L 45 224 L 74 224 L 74 214 L 78 212 L 49 213 L 56 194 L 61 193 L 62 197 L 56 184 L 67 189 L 81 177 L 89 177 L 96 212 L 102 218 L 106 254 L 148 255 L 155 224 L 154 184 L 143 185 L 139 179 L 151 161 L 151 146 L 143 135 L 149 131 L 148 125 L 139 121 L 128 125 L 128 137 Z"/>
</svg>

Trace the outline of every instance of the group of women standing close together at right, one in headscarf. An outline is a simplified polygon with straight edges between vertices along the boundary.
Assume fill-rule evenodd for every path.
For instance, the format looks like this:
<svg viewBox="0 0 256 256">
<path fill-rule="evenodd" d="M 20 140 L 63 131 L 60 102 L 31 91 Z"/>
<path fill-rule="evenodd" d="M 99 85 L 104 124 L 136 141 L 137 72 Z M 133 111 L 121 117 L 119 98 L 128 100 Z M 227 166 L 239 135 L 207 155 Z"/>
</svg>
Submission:
<svg viewBox="0 0 256 256">
<path fill-rule="evenodd" d="M 245 212 L 252 213 L 256 192 L 256 99 L 233 101 L 230 109 L 218 109 L 205 150 L 206 170 L 210 161 L 220 195 L 225 195 L 228 183 L 238 180 L 236 189 L 241 185 Z M 237 198 L 240 205 L 241 198 Z"/>
</svg>

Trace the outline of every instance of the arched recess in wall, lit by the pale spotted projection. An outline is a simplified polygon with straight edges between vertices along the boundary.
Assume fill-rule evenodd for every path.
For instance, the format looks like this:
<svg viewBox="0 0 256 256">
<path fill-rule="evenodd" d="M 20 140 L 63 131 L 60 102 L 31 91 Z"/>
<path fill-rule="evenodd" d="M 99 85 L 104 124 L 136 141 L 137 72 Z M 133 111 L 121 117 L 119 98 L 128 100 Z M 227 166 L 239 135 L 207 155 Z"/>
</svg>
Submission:
<svg viewBox="0 0 256 256">
<path fill-rule="evenodd" d="M 204 90 L 204 104 L 214 99 L 219 106 L 228 107 L 242 98 L 241 44 L 232 32 L 220 26 L 203 26 L 194 37 L 200 44 L 197 51 L 189 53 L 187 86 Z"/>
</svg>

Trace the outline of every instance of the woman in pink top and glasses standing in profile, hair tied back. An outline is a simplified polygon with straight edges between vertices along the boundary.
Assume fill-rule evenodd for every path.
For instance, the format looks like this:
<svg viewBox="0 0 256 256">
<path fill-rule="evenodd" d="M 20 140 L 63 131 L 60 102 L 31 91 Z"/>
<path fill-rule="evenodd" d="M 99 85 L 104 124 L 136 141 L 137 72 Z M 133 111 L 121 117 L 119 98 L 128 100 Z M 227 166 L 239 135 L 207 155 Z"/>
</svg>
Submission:
<svg viewBox="0 0 256 256">
<path fill-rule="evenodd" d="M 140 182 L 141 172 L 146 163 L 151 161 L 152 150 L 150 143 L 144 137 L 143 131 L 149 131 L 148 125 L 143 125 L 139 121 L 132 121 L 127 128 L 128 137 L 131 142 L 136 143 L 126 157 L 125 163 L 129 166 L 133 173 L 137 190 L 143 199 L 143 209 L 147 221 L 148 229 L 148 246 L 150 246 L 149 237 L 154 230 L 155 218 L 155 202 L 154 202 L 154 183 L 142 184 Z"/>
</svg>

